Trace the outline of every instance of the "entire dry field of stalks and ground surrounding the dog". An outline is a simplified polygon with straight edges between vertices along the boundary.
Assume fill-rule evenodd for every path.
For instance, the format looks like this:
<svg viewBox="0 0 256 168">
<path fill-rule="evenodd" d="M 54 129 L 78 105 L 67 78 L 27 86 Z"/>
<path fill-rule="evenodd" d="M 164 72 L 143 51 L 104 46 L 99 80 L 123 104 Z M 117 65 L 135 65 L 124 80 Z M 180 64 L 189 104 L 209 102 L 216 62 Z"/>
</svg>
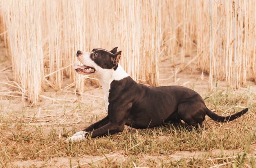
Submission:
<svg viewBox="0 0 256 168">
<path fill-rule="evenodd" d="M 0 0 L 0 168 L 256 168 L 255 0 Z M 182 85 L 239 119 L 64 143 L 107 115 L 76 51 L 121 50 L 138 83 Z"/>
</svg>

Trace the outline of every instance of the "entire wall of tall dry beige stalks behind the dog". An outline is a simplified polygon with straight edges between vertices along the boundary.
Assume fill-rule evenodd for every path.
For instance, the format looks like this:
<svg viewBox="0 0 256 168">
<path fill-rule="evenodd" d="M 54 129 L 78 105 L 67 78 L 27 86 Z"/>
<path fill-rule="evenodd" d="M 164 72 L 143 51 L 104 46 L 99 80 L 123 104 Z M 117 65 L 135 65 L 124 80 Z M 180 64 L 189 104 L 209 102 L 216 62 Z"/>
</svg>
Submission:
<svg viewBox="0 0 256 168">
<path fill-rule="evenodd" d="M 178 60 L 186 66 L 198 56 L 213 90 L 217 80 L 238 88 L 256 79 L 254 0 L 0 2 L 13 75 L 30 101 L 38 101 L 46 84 L 61 89 L 64 75 L 82 93 L 84 78 L 72 69 L 76 50 L 98 47 L 118 46 L 128 74 L 151 85 L 159 81 L 160 47 L 174 65 Z"/>
</svg>

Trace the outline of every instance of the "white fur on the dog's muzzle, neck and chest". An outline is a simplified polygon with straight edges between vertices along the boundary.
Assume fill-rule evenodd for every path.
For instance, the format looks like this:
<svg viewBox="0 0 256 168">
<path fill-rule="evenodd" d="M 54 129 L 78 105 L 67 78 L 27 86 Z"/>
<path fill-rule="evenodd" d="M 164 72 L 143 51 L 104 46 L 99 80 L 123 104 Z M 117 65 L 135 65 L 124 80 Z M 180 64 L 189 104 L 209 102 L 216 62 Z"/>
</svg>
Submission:
<svg viewBox="0 0 256 168">
<path fill-rule="evenodd" d="M 107 51 L 104 49 L 98 49 L 97 51 L 99 50 Z M 126 78 L 129 75 L 127 74 L 127 72 L 125 72 L 125 70 L 121 67 L 121 65 L 118 65 L 116 70 L 101 68 L 90 58 L 90 54 L 91 54 L 90 52 L 83 52 L 83 54 L 78 56 L 77 58 L 83 65 L 93 67 L 95 69 L 95 72 L 89 75 L 95 76 L 98 79 L 99 83 L 101 84 L 102 89 L 105 93 L 104 94 L 105 108 L 106 108 L 106 111 L 108 111 L 108 105 L 109 105 L 108 96 L 109 96 L 109 90 L 110 90 L 110 83 L 113 80 L 119 81 L 123 78 Z"/>
</svg>

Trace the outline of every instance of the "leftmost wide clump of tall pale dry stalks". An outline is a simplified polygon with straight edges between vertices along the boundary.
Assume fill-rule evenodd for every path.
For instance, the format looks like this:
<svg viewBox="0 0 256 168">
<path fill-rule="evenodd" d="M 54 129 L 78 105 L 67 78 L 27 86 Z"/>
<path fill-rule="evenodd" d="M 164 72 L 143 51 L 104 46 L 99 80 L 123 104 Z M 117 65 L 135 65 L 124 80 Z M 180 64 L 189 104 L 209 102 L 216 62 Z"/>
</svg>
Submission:
<svg viewBox="0 0 256 168">
<path fill-rule="evenodd" d="M 8 27 L 13 77 L 22 87 L 22 102 L 25 104 L 26 96 L 29 101 L 37 102 L 43 81 L 40 6 L 35 1 L 10 0 L 2 1 L 2 7 Z"/>
</svg>

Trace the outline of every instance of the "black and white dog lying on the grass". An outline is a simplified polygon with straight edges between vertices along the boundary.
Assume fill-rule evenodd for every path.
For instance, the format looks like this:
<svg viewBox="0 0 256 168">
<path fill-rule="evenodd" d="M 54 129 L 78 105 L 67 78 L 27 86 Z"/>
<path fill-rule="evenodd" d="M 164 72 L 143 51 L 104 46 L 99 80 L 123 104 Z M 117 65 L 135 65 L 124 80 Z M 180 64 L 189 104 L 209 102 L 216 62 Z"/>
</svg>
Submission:
<svg viewBox="0 0 256 168">
<path fill-rule="evenodd" d="M 122 132 L 124 125 L 143 129 L 183 120 L 196 127 L 202 125 L 206 114 L 214 121 L 232 121 L 248 111 L 246 108 L 231 116 L 218 116 L 206 107 L 197 92 L 189 88 L 138 84 L 118 64 L 121 51 L 117 52 L 117 47 L 111 51 L 78 51 L 76 56 L 83 64 L 74 67 L 76 72 L 94 75 L 102 85 L 108 116 L 76 132 L 66 142 L 80 141 L 88 135 L 98 137 Z"/>
</svg>

